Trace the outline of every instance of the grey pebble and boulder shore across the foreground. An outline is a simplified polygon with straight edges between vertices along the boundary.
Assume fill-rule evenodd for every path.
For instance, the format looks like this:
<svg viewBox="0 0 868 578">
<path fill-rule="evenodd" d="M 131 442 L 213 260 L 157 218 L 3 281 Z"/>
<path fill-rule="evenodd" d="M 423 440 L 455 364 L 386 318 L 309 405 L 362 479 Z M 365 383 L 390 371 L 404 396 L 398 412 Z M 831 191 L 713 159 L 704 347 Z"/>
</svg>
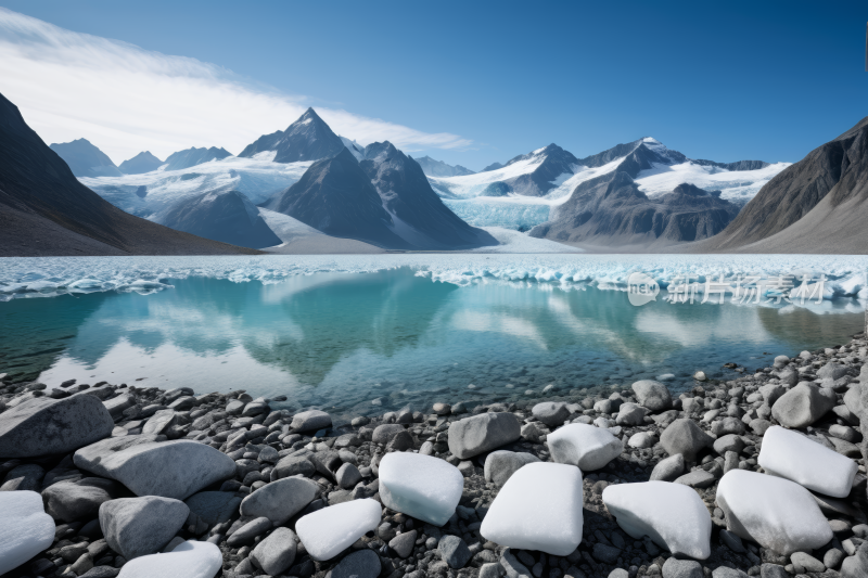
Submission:
<svg viewBox="0 0 868 578">
<path fill-rule="evenodd" d="M 860 377 L 864 375 L 863 368 L 868 367 L 864 365 L 866 358 L 868 342 L 864 334 L 857 334 L 839 349 L 802 352 L 793 359 L 778 356 L 775 364 L 754 374 L 742 374 L 727 381 L 698 381 L 686 393 L 669 395 L 665 386 L 661 389 L 658 385 L 622 385 L 616 389 L 599 386 L 579 389 L 579 394 L 571 391 L 565 400 L 556 393 L 550 397 L 540 396 L 518 403 L 477 407 L 468 407 L 461 401 L 455 404 L 443 401 L 423 408 L 424 412 L 398 410 L 374 419 L 357 416 L 348 424 L 334 427 L 332 418 L 324 412 L 311 410 L 293 414 L 279 408 L 285 399 L 253 399 L 243 390 L 196 395 L 189 388 L 163 390 L 105 383 L 79 390 L 78 385 L 67 383 L 65 387 L 47 391 L 44 386 L 12 385 L 4 381 L 0 388 L 0 452 L 25 451 L 20 448 L 10 450 L 13 448 L 10 439 L 16 432 L 18 436 L 24 436 L 16 439 L 27 436 L 27 439 L 42 439 L 46 448 L 67 444 L 62 451 L 51 455 L 11 455 L 11 459 L 0 459 L 0 480 L 3 484 L 0 490 L 41 492 L 46 511 L 53 515 L 50 547 L 34 552 L 33 561 L 11 570 L 8 576 L 115 576 L 128 564 L 130 567 L 146 564 L 148 555 L 152 552 L 164 551 L 167 544 L 174 549 L 186 540 L 210 543 L 219 549 L 219 571 L 215 568 L 210 575 L 203 574 L 203 578 L 265 576 L 264 566 L 276 569 L 280 564 L 289 566 L 281 567 L 272 576 L 323 578 L 331 571 L 330 578 L 334 578 L 343 576 L 352 567 L 355 568 L 353 573 L 362 578 L 499 578 L 503 574 L 510 578 L 525 575 L 528 578 L 635 578 L 661 574 L 668 578 L 676 576 L 672 574 L 673 568 L 685 564 L 692 568 L 690 571 L 698 569 L 701 575 L 715 578 L 718 575 L 742 576 L 738 573 L 726 574 L 720 568 L 733 568 L 751 576 L 778 571 L 769 569 L 766 566 L 769 564 L 789 573 L 780 576 L 805 574 L 809 565 L 813 565 L 810 571 L 819 573 L 815 575 L 831 577 L 842 570 L 841 576 L 848 576 L 846 571 L 851 567 L 868 569 L 868 545 L 861 545 L 868 543 L 865 542 L 868 539 L 868 479 L 860 450 L 865 425 L 860 432 L 859 413 L 863 410 L 857 402 L 859 389 L 868 387 L 863 385 Z M 0 380 L 2 377 L 0 375 Z M 658 383 L 644 381 L 637 384 L 646 382 Z M 847 396 L 851 390 L 856 395 Z M 86 403 L 79 402 L 84 398 L 89 399 L 85 400 Z M 47 399 L 58 401 L 47 402 Z M 786 403 L 779 404 L 781 399 Z M 73 401 L 82 408 L 88 406 L 87 411 L 95 412 L 93 415 L 104 418 L 107 414 L 111 424 L 103 421 L 100 434 L 93 434 L 94 426 L 91 424 L 88 427 L 73 427 L 73 433 L 55 437 L 46 437 L 44 431 L 27 431 L 26 420 L 10 425 L 10 415 L 22 415 L 31 406 L 69 406 Z M 82 408 L 77 409 L 78 413 L 74 415 L 79 422 L 81 412 L 86 412 Z M 824 408 L 825 411 L 821 411 Z M 868 414 L 865 418 L 868 422 Z M 59 418 L 55 415 L 55 419 Z M 506 420 L 507 426 L 492 425 L 497 420 Z M 525 550 L 514 547 L 526 539 L 507 536 L 524 526 L 519 519 L 507 524 L 507 530 L 490 529 L 494 522 L 487 526 L 489 535 L 506 536 L 501 540 L 508 543 L 483 536 L 481 532 L 486 530 L 483 524 L 490 512 L 495 512 L 490 519 L 500 519 L 502 516 L 509 517 L 510 511 L 515 510 L 503 505 L 506 499 L 498 504 L 497 497 L 516 472 L 529 475 L 533 468 L 522 470 L 522 466 L 536 461 L 563 464 L 575 459 L 575 455 L 564 458 L 564 444 L 575 450 L 580 446 L 580 440 L 564 441 L 563 432 L 549 438 L 554 432 L 567 427 L 564 424 L 592 427 L 595 435 L 607 436 L 605 444 L 614 448 L 607 450 L 609 453 L 602 452 L 605 458 L 603 461 L 598 455 L 599 449 L 586 451 L 579 448 L 578 453 L 584 455 L 579 459 L 587 460 L 592 454 L 599 463 L 573 464 L 579 465 L 583 478 L 583 511 L 578 521 L 582 540 L 578 548 L 556 555 L 540 553 L 541 548 Z M 816 501 L 817 512 L 821 512 L 824 519 L 830 521 L 833 538 L 827 540 L 828 543 L 812 548 L 803 543 L 795 551 L 788 545 L 781 551 L 781 547 L 770 542 L 757 543 L 744 539 L 739 536 L 738 524 L 731 521 L 727 523 L 728 518 L 738 514 L 731 503 L 726 505 L 725 512 L 725 504 L 720 503 L 718 497 L 720 479 L 732 471 L 770 477 L 764 474 L 766 468 L 760 463 L 760 455 L 765 435 L 778 424 L 790 427 L 777 427 L 773 432 L 800 431 L 809 436 L 806 439 L 828 450 L 820 460 L 839 463 L 830 457 L 837 455 L 853 463 L 856 473 L 852 491 L 845 496 L 834 498 L 821 494 L 816 489 L 813 493 L 805 490 Z M 573 431 L 575 428 L 564 429 Z M 90 439 L 86 439 L 88 436 Z M 132 463 L 136 458 L 133 454 L 141 454 L 143 448 L 156 458 L 164 451 L 180 451 L 177 448 L 182 448 L 183 452 L 173 454 L 171 460 L 166 459 L 164 468 L 153 471 Z M 790 455 L 787 444 L 776 441 L 774 448 L 782 455 L 775 467 L 780 468 L 779 463 L 783 462 L 787 474 L 776 471 L 775 479 L 807 475 L 802 472 L 804 464 L 797 462 L 809 461 L 810 457 L 805 458 L 804 452 Z M 495 450 L 512 453 L 495 454 Z M 373 527 L 365 531 L 361 531 L 365 528 L 357 528 L 356 538 L 340 548 L 335 555 L 317 560 L 322 557 L 315 555 L 317 541 L 305 537 L 304 524 L 297 525 L 298 521 L 329 508 L 359 500 L 373 500 L 380 504 L 387 502 L 395 506 L 396 501 L 400 502 L 395 497 L 396 492 L 409 490 L 395 487 L 395 481 L 390 480 L 388 470 L 384 474 L 381 464 L 383 458 L 396 452 L 427 455 L 444 465 L 449 464 L 448 467 L 454 466 L 460 473 L 461 491 L 456 494 L 457 503 L 452 505 L 448 521 L 437 526 L 417 517 L 427 515 L 425 512 L 410 513 L 406 510 L 412 508 L 403 506 L 400 509 L 405 511 L 401 513 L 384 508 Z M 679 455 L 680 461 L 676 459 Z M 768 458 L 764 460 L 768 465 Z M 188 471 L 188 463 L 199 464 L 197 471 Z M 808 470 L 822 470 L 818 464 L 807 465 L 810 466 Z M 451 470 L 448 472 L 451 473 Z M 188 479 L 191 476 L 195 479 Z M 180 479 L 183 483 L 178 488 L 167 489 L 167 481 L 163 478 L 177 478 L 175 481 Z M 661 538 L 668 531 L 664 526 L 672 521 L 652 521 L 662 525 L 654 531 L 658 532 L 656 542 L 663 543 L 629 535 L 628 528 L 638 531 L 636 525 L 629 526 L 625 522 L 624 506 L 617 504 L 616 499 L 607 498 L 615 496 L 615 492 L 607 492 L 605 489 L 629 489 L 627 484 L 649 479 L 677 480 L 667 485 L 667 488 L 692 488 L 691 491 L 707 511 L 710 534 L 706 557 L 685 555 L 679 550 L 684 548 L 682 543 L 678 543 L 679 540 L 669 538 L 666 541 Z M 278 481 L 280 484 L 276 484 Z M 805 484 L 802 478 L 800 481 Z M 535 478 L 531 487 L 545 488 L 548 483 L 549 477 L 544 476 Z M 303 488 L 281 489 L 299 484 L 304 485 Z M 381 484 L 385 485 L 385 489 Z M 439 491 L 437 488 L 425 488 L 425 480 L 418 481 L 418 485 L 419 496 L 423 498 L 427 496 L 425 492 Z M 801 485 L 796 486 L 802 488 Z M 99 488 L 99 491 L 93 488 Z M 299 488 L 310 490 L 309 500 L 305 498 L 301 500 L 304 503 L 296 504 L 298 508 L 294 511 L 289 514 L 284 512 L 282 515 L 286 516 L 285 519 L 268 518 L 269 508 L 279 510 L 286 502 L 297 501 L 299 492 L 304 493 Z M 288 493 L 276 493 L 279 491 Z M 82 498 L 81 492 L 86 497 Z M 275 497 L 271 497 L 269 508 L 250 505 L 255 500 L 248 498 L 256 497 L 263 501 L 270 493 L 275 493 Z M 436 501 L 433 493 L 429 500 Z M 3 491 L 0 494 L 8 497 L 15 492 Z M 146 553 L 125 556 L 125 549 L 127 554 L 136 550 L 129 550 L 132 547 L 124 543 L 123 539 L 111 537 L 113 530 L 108 528 L 112 524 L 107 522 L 111 516 L 103 514 L 111 508 L 103 504 L 153 499 L 145 498 L 148 496 L 169 498 L 169 494 L 175 496 L 173 500 L 186 504 L 189 515 L 174 528 L 168 527 L 171 526 L 168 523 L 158 523 L 157 526 L 168 528 L 168 538 L 157 545 L 151 544 Z M 532 498 L 545 501 L 545 494 L 546 491 L 541 491 L 540 496 Z M 246 509 L 244 504 L 248 504 Z M 613 512 L 618 514 L 613 515 Z M 641 513 L 634 514 L 641 517 Z M 144 514 L 139 517 L 146 518 Z M 774 516 L 761 517 L 774 519 Z M 565 526 L 560 523 L 559 526 L 569 527 L 575 522 L 567 519 L 563 523 Z M 141 522 L 133 516 L 125 518 L 124 523 L 135 526 Z M 774 524 L 768 519 L 764 523 Z M 105 529 L 108 529 L 107 534 Z M 773 535 L 774 530 L 773 527 Z M 644 534 L 649 532 L 654 534 L 644 528 Z M 340 532 L 334 530 L 333 534 Z M 761 534 L 754 532 L 755 536 Z M 328 542 L 333 538 L 330 536 L 320 540 Z M 413 538 L 410 539 L 410 536 Z M 542 531 L 535 539 L 542 543 L 554 538 Z M 680 539 L 680 542 L 685 541 Z M 261 543 L 268 544 L 269 551 L 277 551 L 279 555 L 264 553 L 268 549 L 260 548 Z M 510 543 L 513 548 L 506 548 Z M 0 543 L 0 553 L 3 548 L 4 544 Z M 672 551 L 680 553 L 673 556 Z M 179 552 L 156 557 L 165 563 Z M 360 556 L 363 552 L 373 552 L 375 560 L 367 554 Z M 210 555 L 214 564 L 214 552 Z M 202 564 L 205 564 L 205 554 L 202 556 Z M 358 565 L 362 557 L 366 558 L 365 564 L 355 567 L 354 564 Z M 272 558 L 283 562 L 273 565 Z M 292 560 L 286 563 L 289 558 Z M 697 565 L 692 565 L 691 560 L 697 561 Z M 822 568 L 817 569 L 817 564 Z M 374 566 L 379 566 L 376 571 Z M 620 570 L 623 573 L 618 574 Z"/>
</svg>

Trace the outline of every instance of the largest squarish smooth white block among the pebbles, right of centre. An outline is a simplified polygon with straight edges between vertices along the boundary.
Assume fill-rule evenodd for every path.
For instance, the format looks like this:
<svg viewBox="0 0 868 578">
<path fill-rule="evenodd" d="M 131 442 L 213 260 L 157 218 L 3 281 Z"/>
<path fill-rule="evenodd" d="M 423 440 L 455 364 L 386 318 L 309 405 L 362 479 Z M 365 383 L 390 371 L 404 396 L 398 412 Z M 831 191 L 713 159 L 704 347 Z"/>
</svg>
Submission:
<svg viewBox="0 0 868 578">
<path fill-rule="evenodd" d="M 480 532 L 508 548 L 565 556 L 582 541 L 582 503 L 580 470 L 529 463 L 503 485 Z"/>
</svg>

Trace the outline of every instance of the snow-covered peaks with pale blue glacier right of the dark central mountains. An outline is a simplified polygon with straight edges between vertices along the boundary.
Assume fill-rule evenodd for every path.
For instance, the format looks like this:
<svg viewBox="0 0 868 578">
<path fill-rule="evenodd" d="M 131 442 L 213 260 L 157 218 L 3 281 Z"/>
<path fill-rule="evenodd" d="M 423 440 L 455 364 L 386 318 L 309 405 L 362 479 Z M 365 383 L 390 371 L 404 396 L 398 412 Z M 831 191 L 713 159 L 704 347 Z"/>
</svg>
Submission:
<svg viewBox="0 0 868 578">
<path fill-rule="evenodd" d="M 644 138 L 585 158 L 575 158 L 550 145 L 515 157 L 500 168 L 429 180 L 444 203 L 469 223 L 527 231 L 554 219 L 558 207 L 579 184 L 602 175 L 626 172 L 650 198 L 689 183 L 719 190 L 720 198 L 741 206 L 787 166 L 787 163 L 770 165 L 760 160 L 730 164 L 691 160 L 655 139 Z M 516 187 L 519 183 L 527 188 Z"/>
</svg>

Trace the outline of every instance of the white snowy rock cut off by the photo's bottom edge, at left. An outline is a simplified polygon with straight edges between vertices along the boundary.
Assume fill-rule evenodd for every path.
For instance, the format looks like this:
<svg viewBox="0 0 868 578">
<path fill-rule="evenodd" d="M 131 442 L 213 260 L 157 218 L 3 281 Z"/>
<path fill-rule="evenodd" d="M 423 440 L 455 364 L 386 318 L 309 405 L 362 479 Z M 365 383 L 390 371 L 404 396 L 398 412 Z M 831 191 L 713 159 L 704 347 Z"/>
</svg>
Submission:
<svg viewBox="0 0 868 578">
<path fill-rule="evenodd" d="M 167 554 L 130 560 L 117 578 L 212 578 L 222 566 L 220 549 L 210 542 L 188 540 Z"/>
</svg>

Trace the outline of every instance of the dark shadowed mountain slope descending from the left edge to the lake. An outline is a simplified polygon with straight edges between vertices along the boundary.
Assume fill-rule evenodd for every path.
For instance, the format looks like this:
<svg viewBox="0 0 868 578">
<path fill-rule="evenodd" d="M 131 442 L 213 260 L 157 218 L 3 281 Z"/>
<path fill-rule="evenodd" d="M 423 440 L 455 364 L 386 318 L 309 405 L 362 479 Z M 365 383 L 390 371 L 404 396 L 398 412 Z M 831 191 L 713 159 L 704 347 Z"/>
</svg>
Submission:
<svg viewBox="0 0 868 578">
<path fill-rule="evenodd" d="M 81 184 L 0 94 L 0 255 L 254 253 L 124 213 Z"/>
</svg>

